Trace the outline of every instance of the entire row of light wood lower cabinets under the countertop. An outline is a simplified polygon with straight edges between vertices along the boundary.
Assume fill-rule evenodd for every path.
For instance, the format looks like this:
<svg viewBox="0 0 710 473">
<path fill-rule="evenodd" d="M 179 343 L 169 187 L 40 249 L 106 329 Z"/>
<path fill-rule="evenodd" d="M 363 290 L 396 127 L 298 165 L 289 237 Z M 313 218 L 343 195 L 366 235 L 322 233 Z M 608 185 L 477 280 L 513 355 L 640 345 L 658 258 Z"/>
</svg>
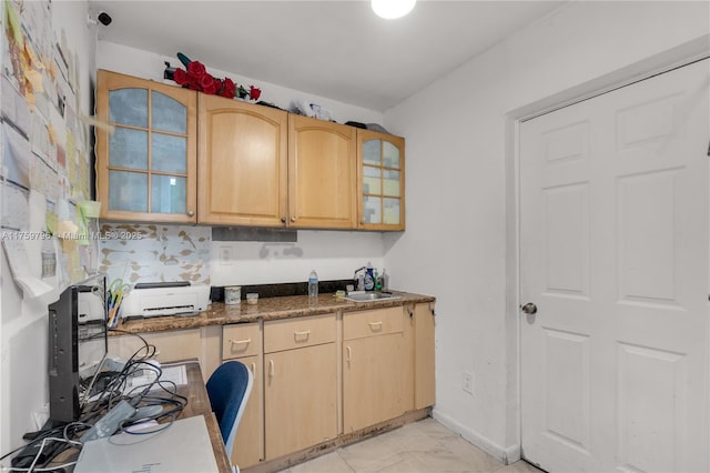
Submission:
<svg viewBox="0 0 710 473">
<path fill-rule="evenodd" d="M 245 469 L 434 405 L 433 302 L 344 312 L 342 336 L 337 320 L 331 313 L 143 336 L 161 361 L 199 358 L 205 378 L 229 360 L 252 370 L 231 459 Z M 128 335 L 109 343 L 124 358 L 141 345 Z"/>
</svg>

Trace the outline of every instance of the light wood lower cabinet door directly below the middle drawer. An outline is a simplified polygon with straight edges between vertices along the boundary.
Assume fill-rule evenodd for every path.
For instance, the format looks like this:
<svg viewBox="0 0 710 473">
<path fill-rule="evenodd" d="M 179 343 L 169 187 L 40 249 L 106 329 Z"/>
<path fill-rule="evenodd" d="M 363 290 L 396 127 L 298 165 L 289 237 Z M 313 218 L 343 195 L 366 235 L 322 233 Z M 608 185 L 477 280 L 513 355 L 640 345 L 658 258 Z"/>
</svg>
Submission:
<svg viewBox="0 0 710 473">
<path fill-rule="evenodd" d="M 336 345 L 264 356 L 266 460 L 337 435 Z"/>
</svg>

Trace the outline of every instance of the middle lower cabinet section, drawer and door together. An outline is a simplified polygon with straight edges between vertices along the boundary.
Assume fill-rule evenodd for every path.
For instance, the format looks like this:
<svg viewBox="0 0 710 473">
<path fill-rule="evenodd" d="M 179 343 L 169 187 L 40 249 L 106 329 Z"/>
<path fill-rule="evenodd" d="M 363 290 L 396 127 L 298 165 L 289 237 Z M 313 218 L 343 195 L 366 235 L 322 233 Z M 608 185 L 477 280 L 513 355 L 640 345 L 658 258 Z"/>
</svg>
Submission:
<svg viewBox="0 0 710 473">
<path fill-rule="evenodd" d="M 335 314 L 264 323 L 266 460 L 337 436 Z"/>
</svg>

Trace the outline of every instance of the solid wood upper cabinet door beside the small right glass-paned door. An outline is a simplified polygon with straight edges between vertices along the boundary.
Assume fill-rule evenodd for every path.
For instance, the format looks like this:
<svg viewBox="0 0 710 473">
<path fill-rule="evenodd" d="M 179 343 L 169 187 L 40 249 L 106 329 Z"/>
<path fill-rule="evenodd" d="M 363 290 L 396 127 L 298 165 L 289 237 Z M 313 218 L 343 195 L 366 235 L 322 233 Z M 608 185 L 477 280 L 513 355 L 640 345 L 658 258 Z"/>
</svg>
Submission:
<svg viewBox="0 0 710 473">
<path fill-rule="evenodd" d="M 356 130 L 306 117 L 288 117 L 291 227 L 356 227 Z"/>
</svg>

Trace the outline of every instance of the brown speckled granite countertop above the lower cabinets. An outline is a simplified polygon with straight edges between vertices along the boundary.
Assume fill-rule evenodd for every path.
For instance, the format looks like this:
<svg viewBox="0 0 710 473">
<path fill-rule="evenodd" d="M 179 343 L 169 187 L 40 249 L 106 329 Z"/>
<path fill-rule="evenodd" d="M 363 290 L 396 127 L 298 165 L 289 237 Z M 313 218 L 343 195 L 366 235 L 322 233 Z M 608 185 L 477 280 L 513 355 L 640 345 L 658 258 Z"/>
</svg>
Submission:
<svg viewBox="0 0 710 473">
<path fill-rule="evenodd" d="M 226 305 L 224 302 L 213 302 L 209 309 L 199 315 L 191 316 L 155 316 L 150 319 L 135 319 L 123 321 L 111 332 L 120 335 L 121 332 L 146 333 L 165 330 L 196 329 L 207 325 L 226 325 L 231 323 L 255 322 L 258 320 L 278 320 L 292 316 L 318 315 L 333 312 L 351 312 L 369 309 L 383 309 L 415 304 L 420 302 L 434 302 L 432 295 L 413 294 L 409 292 L 392 291 L 398 299 L 387 299 L 369 302 L 351 302 L 336 298 L 332 293 L 318 295 L 316 303 L 310 303 L 307 295 L 288 295 L 281 298 L 258 298 L 258 303 L 250 305 L 246 301 L 241 304 Z"/>
</svg>

